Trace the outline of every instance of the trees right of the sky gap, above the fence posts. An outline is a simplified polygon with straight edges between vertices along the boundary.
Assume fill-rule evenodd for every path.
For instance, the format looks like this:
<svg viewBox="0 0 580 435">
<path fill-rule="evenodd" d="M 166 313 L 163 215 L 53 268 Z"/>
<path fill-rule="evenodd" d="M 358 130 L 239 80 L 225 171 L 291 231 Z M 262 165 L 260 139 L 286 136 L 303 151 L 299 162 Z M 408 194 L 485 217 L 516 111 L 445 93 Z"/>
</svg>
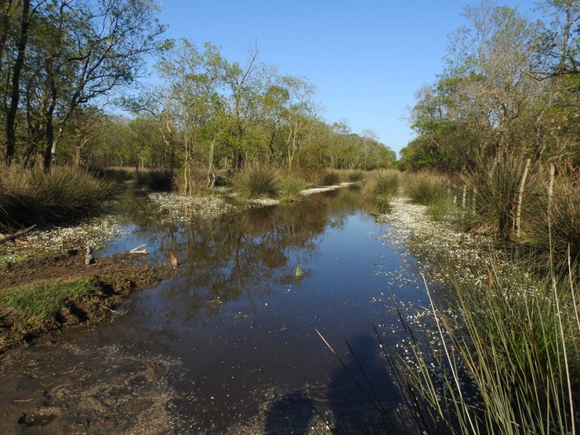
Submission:
<svg viewBox="0 0 580 435">
<path fill-rule="evenodd" d="M 407 169 L 469 169 L 505 153 L 580 164 L 580 3 L 550 0 L 545 21 L 508 6 L 467 6 L 445 70 L 417 93 Z"/>
</svg>

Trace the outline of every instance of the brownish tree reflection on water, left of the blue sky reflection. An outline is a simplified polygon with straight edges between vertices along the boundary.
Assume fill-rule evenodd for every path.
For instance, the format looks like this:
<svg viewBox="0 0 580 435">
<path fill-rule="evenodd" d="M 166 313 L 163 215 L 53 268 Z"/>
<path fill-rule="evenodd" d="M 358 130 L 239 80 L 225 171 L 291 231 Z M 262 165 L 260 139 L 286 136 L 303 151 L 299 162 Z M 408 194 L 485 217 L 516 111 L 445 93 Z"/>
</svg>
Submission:
<svg viewBox="0 0 580 435">
<path fill-rule="evenodd" d="M 297 263 L 304 267 L 316 255 L 327 226 L 345 224 L 338 212 L 359 204 L 358 193 L 343 191 L 175 227 L 173 251 L 183 267 L 166 297 L 187 303 L 190 318 L 200 309 L 209 318 L 244 293 L 249 300 L 268 295 L 272 282 L 288 282 Z"/>
</svg>

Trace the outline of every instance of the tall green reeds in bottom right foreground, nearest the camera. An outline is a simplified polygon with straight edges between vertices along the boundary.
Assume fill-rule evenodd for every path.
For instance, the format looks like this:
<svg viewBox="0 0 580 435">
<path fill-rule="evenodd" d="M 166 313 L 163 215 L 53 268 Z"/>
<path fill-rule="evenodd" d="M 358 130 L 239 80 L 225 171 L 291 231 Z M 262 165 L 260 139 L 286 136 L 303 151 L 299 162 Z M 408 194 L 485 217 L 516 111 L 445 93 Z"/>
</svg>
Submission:
<svg viewBox="0 0 580 435">
<path fill-rule="evenodd" d="M 481 278 L 456 285 L 452 307 L 443 309 L 429 293 L 436 340 L 425 345 L 411 334 L 407 379 L 427 414 L 452 433 L 574 433 L 577 282 L 553 272 L 537 277 L 496 258 L 490 263 Z"/>
</svg>

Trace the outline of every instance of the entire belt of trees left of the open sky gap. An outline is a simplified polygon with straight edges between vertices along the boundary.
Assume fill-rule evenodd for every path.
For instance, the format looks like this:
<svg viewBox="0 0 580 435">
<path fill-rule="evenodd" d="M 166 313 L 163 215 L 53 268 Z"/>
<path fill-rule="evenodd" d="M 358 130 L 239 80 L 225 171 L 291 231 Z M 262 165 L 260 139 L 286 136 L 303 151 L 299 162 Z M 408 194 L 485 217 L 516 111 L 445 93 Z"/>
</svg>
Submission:
<svg viewBox="0 0 580 435">
<path fill-rule="evenodd" d="M 3 0 L 0 6 L 0 149 L 6 164 L 49 170 L 132 165 L 208 175 L 248 163 L 371 169 L 393 151 L 372 131 L 327 124 L 315 88 L 218 47 L 162 41 L 153 0 Z M 155 55 L 161 84 L 128 86 Z M 123 91 L 129 115 L 104 111 Z M 115 99 L 119 103 L 119 99 Z"/>
</svg>

